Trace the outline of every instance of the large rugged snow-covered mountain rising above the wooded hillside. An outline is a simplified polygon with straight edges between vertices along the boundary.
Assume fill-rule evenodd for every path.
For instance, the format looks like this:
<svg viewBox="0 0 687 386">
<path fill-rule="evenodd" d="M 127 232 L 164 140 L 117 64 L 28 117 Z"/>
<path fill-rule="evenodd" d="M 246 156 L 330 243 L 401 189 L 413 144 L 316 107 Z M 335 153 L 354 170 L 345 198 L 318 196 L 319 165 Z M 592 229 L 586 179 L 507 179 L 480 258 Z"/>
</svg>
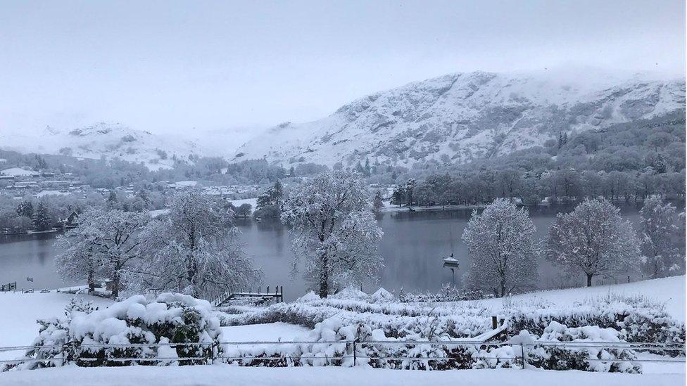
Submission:
<svg viewBox="0 0 687 386">
<path fill-rule="evenodd" d="M 241 146 L 234 160 L 467 162 L 541 145 L 560 131 L 683 108 L 684 79 L 458 73 L 360 98 L 315 122 L 279 124 Z"/>
</svg>

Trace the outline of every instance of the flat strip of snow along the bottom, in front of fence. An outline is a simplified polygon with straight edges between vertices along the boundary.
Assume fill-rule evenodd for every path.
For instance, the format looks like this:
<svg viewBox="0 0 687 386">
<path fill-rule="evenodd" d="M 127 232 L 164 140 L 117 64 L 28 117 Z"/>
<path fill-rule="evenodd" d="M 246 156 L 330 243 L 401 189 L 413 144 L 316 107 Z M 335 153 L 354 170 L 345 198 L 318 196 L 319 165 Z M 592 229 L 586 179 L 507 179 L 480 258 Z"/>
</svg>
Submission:
<svg viewBox="0 0 687 386">
<path fill-rule="evenodd" d="M 181 367 L 47 368 L 0 373 L 0 385 L 433 385 L 536 386 L 683 385 L 684 373 L 624 374 L 538 370 L 385 370 L 341 367 L 236 367 L 225 364 Z"/>
</svg>

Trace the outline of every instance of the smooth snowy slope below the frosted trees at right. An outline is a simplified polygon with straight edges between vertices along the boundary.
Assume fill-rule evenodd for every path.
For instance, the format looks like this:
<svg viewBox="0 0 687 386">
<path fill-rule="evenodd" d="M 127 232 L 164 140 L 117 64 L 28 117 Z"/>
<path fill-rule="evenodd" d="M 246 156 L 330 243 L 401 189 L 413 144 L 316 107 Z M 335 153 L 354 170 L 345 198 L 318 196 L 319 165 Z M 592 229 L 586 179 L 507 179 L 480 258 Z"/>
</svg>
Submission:
<svg viewBox="0 0 687 386">
<path fill-rule="evenodd" d="M 666 311 L 679 321 L 685 321 L 685 276 L 660 278 L 634 283 L 598 285 L 596 287 L 569 288 L 566 290 L 549 290 L 515 295 L 508 300 L 488 299 L 479 303 L 493 310 L 503 308 L 504 302 L 536 302 L 543 300 L 558 305 L 572 305 L 584 300 L 595 300 L 607 295 L 642 295 L 650 300 L 665 302 Z"/>
</svg>

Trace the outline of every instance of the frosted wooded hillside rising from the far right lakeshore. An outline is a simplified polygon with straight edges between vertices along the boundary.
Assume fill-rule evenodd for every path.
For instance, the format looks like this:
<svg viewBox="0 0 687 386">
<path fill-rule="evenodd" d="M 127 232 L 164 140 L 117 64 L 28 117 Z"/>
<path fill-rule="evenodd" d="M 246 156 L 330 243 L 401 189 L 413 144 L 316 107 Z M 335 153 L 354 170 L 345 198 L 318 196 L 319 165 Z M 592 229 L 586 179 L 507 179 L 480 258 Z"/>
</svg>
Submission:
<svg viewBox="0 0 687 386">
<path fill-rule="evenodd" d="M 579 134 L 561 133 L 546 147 L 467 165 L 430 169 L 398 185 L 397 205 L 479 204 L 520 198 L 536 205 L 603 197 L 641 201 L 685 198 L 685 120 L 668 115 Z M 408 173 L 408 175 L 416 175 Z M 417 178 L 417 179 L 420 179 Z"/>
</svg>

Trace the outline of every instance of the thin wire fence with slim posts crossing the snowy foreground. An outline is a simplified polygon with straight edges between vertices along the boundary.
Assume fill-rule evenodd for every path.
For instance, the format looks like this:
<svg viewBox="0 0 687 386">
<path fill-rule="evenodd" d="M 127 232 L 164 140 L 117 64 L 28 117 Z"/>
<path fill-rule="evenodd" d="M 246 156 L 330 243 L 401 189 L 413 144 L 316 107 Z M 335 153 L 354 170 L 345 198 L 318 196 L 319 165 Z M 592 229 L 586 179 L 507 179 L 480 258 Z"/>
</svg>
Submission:
<svg viewBox="0 0 687 386">
<path fill-rule="evenodd" d="M 222 356 L 219 353 L 218 347 L 227 349 L 230 347 L 245 347 L 245 346 L 259 346 L 259 345 L 346 345 L 346 354 L 334 357 L 324 356 Z M 359 359 L 371 360 L 389 360 L 389 361 L 450 361 L 455 358 L 450 356 L 367 356 L 358 354 L 358 349 L 366 345 L 382 345 L 382 346 L 444 346 L 444 347 L 501 347 L 512 346 L 519 347 L 519 356 L 505 357 L 505 356 L 480 356 L 480 359 L 508 359 L 519 361 L 522 368 L 527 366 L 529 352 L 533 347 L 565 347 L 568 349 L 632 349 L 637 352 L 672 352 L 674 357 L 664 358 L 638 358 L 638 359 L 584 359 L 584 361 L 598 361 L 607 363 L 619 362 L 655 362 L 655 363 L 681 363 L 685 364 L 685 346 L 673 345 L 657 342 L 534 342 L 534 343 L 510 343 L 510 342 L 482 342 L 482 341 L 467 341 L 467 340 L 436 340 L 436 341 L 418 341 L 418 340 L 328 340 L 328 341 L 293 341 L 293 342 L 268 342 L 268 341 L 251 341 L 251 342 L 182 342 L 168 344 L 161 343 L 140 343 L 140 344 L 96 344 L 89 343 L 84 345 L 46 345 L 46 346 L 11 346 L 0 347 L 0 352 L 11 351 L 26 351 L 30 349 L 43 349 L 50 351 L 54 356 L 51 358 L 26 358 L 13 360 L 0 360 L 0 364 L 20 364 L 23 362 L 52 362 L 54 366 L 64 366 L 70 361 L 69 355 L 73 354 L 75 350 L 83 349 L 80 354 L 89 354 L 92 349 L 135 349 L 135 348 L 153 348 L 153 347 L 189 347 L 196 349 L 210 349 L 206 356 L 182 356 L 182 357 L 140 357 L 140 356 L 126 356 L 126 357 L 89 357 L 79 356 L 74 361 L 107 361 L 107 362 L 160 362 L 160 361 L 176 361 L 183 363 L 187 361 L 204 361 L 207 364 L 215 363 L 215 361 L 300 361 L 300 360 L 326 360 L 329 364 L 331 361 L 342 361 L 343 359 L 353 359 L 353 364 L 357 364 Z M 191 354 L 191 353 L 189 353 Z M 197 354 L 197 353 L 196 353 Z"/>
</svg>

